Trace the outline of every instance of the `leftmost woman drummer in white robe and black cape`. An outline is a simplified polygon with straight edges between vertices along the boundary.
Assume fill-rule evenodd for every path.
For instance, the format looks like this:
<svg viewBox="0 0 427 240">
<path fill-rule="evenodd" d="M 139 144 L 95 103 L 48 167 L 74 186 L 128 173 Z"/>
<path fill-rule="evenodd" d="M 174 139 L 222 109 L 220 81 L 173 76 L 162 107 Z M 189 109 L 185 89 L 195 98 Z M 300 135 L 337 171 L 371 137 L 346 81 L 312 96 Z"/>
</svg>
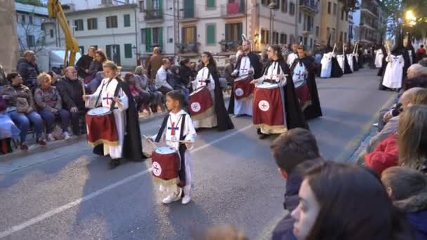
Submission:
<svg viewBox="0 0 427 240">
<path fill-rule="evenodd" d="M 86 115 L 89 144 L 95 146 L 94 154 L 110 155 L 111 168 L 119 166 L 121 158 L 142 161 L 145 156 L 140 138 L 138 112 L 129 85 L 120 79 L 114 62 L 105 62 L 103 69 L 107 78 L 103 79 L 95 93 L 83 95 L 83 99 L 86 107 L 106 107 L 111 110 L 114 117 L 107 126 L 107 124 L 97 124 L 96 119 L 93 120 L 93 124 L 89 123 Z M 90 142 L 91 134 L 97 133 L 100 138 L 96 142 Z M 114 136 L 116 136 L 115 139 Z"/>
</svg>

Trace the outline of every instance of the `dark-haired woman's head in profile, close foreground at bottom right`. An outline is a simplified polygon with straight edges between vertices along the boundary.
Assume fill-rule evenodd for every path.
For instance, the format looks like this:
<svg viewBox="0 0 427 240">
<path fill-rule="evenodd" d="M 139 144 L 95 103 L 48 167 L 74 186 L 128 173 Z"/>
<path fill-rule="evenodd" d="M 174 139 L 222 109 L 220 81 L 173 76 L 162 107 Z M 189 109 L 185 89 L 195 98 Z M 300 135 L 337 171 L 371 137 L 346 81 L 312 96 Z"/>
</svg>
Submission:
<svg viewBox="0 0 427 240">
<path fill-rule="evenodd" d="M 356 165 L 323 162 L 306 173 L 291 213 L 298 240 L 414 239 L 379 177 Z"/>
</svg>

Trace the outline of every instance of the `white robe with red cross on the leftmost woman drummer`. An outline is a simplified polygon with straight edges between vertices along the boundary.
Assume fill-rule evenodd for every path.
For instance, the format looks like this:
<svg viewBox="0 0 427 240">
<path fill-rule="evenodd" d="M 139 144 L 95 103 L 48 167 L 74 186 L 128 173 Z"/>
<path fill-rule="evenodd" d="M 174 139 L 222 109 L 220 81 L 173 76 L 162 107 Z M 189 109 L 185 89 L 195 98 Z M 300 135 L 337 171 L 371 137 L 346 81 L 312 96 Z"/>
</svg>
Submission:
<svg viewBox="0 0 427 240">
<path fill-rule="evenodd" d="M 89 98 L 86 101 L 86 107 L 98 107 L 96 106 L 96 99 L 98 98 L 98 95 L 101 93 L 102 89 L 102 93 L 98 102 L 101 102 L 102 107 L 110 108 L 112 104 L 112 98 L 114 96 L 114 91 L 116 90 L 117 84 L 119 82 L 117 81 L 117 79 L 112 79 L 110 83 L 109 81 L 110 79 L 103 79 L 103 81 L 101 81 L 100 86 L 98 86 L 98 89 L 96 89 L 95 93 L 93 93 L 92 95 L 88 95 Z M 128 96 L 126 95 L 126 93 L 124 93 L 122 89 L 119 90 L 117 97 L 120 98 L 121 102 L 116 102 L 115 107 L 117 107 L 117 109 L 114 109 L 112 112 L 114 114 L 114 121 L 116 123 L 119 144 L 117 146 L 109 146 L 104 144 L 104 155 L 106 156 L 110 154 L 112 159 L 119 159 L 122 157 L 121 150 L 123 149 L 124 129 L 126 128 L 126 119 L 124 111 L 126 111 L 126 109 L 128 109 L 129 107 Z"/>
</svg>

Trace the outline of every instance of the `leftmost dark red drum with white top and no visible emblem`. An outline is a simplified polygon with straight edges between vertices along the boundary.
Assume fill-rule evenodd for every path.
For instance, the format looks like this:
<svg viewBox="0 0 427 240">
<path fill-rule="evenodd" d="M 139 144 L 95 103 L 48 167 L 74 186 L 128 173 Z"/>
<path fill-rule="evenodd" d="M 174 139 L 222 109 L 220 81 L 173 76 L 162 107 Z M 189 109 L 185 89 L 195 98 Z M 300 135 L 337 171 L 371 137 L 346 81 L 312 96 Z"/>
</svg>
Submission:
<svg viewBox="0 0 427 240">
<path fill-rule="evenodd" d="M 119 145 L 116 122 L 114 121 L 114 114 L 110 111 L 110 107 L 96 107 L 89 110 L 85 116 L 85 120 L 89 145 Z"/>
</svg>

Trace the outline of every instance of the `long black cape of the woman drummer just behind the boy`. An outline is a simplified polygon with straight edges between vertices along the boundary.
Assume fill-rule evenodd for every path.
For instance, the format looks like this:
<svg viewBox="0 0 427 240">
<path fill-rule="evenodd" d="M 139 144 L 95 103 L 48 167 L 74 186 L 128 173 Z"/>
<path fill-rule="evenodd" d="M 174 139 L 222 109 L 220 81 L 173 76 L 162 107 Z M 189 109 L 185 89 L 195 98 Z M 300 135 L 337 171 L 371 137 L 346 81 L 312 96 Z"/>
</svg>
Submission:
<svg viewBox="0 0 427 240">
<path fill-rule="evenodd" d="M 217 121 L 217 129 L 218 131 L 227 131 L 228 129 L 235 128 L 234 124 L 228 116 L 227 109 L 225 109 L 225 102 L 223 96 L 223 90 L 221 89 L 221 85 L 219 84 L 219 74 L 216 67 L 213 65 L 206 66 L 209 69 L 209 73 L 211 74 L 213 81 L 215 81 L 215 112 L 216 112 L 216 121 Z"/>
</svg>

